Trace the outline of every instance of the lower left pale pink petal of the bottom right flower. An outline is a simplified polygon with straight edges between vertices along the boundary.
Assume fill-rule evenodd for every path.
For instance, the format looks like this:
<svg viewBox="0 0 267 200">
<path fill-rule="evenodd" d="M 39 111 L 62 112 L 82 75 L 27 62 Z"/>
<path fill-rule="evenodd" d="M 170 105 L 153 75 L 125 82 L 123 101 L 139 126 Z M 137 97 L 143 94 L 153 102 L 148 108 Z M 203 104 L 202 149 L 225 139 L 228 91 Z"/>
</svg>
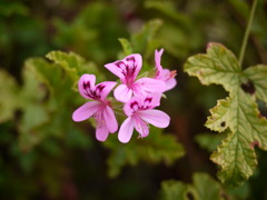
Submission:
<svg viewBox="0 0 267 200">
<path fill-rule="evenodd" d="M 134 120 L 131 117 L 127 118 L 123 123 L 120 126 L 120 130 L 118 133 L 119 141 L 122 143 L 127 143 L 134 131 Z"/>
</svg>

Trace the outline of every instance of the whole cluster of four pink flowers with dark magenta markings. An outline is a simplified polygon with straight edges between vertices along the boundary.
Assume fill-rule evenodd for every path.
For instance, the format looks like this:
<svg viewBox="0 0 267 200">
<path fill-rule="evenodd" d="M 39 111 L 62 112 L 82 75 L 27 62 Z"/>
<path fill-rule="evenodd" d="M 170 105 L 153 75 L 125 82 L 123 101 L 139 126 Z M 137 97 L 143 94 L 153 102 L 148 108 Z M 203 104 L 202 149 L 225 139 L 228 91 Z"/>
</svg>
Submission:
<svg viewBox="0 0 267 200">
<path fill-rule="evenodd" d="M 107 99 L 113 90 L 115 99 L 123 103 L 123 112 L 127 119 L 119 129 L 119 141 L 127 143 L 134 132 L 139 132 L 141 138 L 149 133 L 148 124 L 158 128 L 169 126 L 170 118 L 165 112 L 155 109 L 160 104 L 162 92 L 176 86 L 176 72 L 164 69 L 160 64 L 164 49 L 155 51 L 156 73 L 154 78 L 140 78 L 137 76 L 142 67 L 140 54 L 130 54 L 122 60 L 108 63 L 105 67 L 120 78 L 121 83 L 105 81 L 96 86 L 96 76 L 83 74 L 78 83 L 80 94 L 90 99 L 78 108 L 73 114 L 73 121 L 83 121 L 91 117 L 96 119 L 96 137 L 105 141 L 109 133 L 118 130 L 118 122 L 112 110 L 112 102 Z"/>
</svg>

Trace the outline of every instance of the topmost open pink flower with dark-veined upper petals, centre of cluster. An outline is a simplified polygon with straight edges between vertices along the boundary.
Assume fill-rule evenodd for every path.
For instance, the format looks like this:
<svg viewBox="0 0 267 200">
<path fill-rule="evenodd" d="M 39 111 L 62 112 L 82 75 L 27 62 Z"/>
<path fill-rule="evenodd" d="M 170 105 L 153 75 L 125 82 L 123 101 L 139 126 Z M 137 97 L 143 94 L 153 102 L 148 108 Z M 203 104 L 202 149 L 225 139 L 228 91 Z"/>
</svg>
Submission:
<svg viewBox="0 0 267 200">
<path fill-rule="evenodd" d="M 140 54 L 130 54 L 122 60 L 108 63 L 105 67 L 120 78 L 121 84 L 115 89 L 115 98 L 127 102 L 134 96 L 147 96 L 152 92 L 162 92 L 165 83 L 161 80 L 141 78 L 136 80 L 142 66 Z"/>
</svg>

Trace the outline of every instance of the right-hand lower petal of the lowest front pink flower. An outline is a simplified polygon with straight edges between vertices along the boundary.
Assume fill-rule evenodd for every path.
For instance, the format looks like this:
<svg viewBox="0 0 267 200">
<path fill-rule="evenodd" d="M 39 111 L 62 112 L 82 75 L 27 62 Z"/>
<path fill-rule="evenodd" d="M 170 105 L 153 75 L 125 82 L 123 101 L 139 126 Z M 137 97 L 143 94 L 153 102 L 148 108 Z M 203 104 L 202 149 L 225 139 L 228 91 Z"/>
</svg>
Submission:
<svg viewBox="0 0 267 200">
<path fill-rule="evenodd" d="M 168 114 L 160 110 L 144 110 L 139 111 L 138 116 L 148 123 L 151 123 L 155 127 L 158 128 L 166 128 L 169 126 L 170 118 Z"/>
</svg>

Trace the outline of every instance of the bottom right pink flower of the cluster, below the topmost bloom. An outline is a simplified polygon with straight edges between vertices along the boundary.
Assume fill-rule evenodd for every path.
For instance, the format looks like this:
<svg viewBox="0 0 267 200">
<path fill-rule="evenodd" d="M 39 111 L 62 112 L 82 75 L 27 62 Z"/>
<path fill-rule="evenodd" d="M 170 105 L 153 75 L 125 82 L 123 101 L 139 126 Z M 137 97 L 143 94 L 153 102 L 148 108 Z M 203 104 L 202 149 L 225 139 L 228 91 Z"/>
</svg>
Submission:
<svg viewBox="0 0 267 200">
<path fill-rule="evenodd" d="M 134 128 L 139 132 L 141 138 L 148 136 L 148 123 L 158 128 L 169 126 L 170 118 L 160 110 L 154 109 L 159 106 L 160 94 L 136 96 L 128 101 L 123 111 L 128 118 L 123 121 L 119 130 L 119 141 L 127 143 Z"/>
</svg>

